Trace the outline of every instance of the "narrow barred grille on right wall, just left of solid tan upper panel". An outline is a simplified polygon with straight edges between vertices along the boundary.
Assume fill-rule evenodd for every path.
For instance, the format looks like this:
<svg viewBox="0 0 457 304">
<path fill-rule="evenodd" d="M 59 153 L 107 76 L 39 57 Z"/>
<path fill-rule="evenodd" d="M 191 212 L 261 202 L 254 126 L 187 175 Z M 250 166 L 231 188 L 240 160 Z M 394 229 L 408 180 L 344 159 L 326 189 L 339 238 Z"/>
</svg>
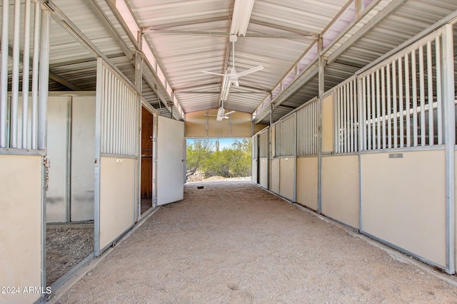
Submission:
<svg viewBox="0 0 457 304">
<path fill-rule="evenodd" d="M 318 154 L 318 103 L 312 100 L 297 114 L 297 155 Z"/>
</svg>

